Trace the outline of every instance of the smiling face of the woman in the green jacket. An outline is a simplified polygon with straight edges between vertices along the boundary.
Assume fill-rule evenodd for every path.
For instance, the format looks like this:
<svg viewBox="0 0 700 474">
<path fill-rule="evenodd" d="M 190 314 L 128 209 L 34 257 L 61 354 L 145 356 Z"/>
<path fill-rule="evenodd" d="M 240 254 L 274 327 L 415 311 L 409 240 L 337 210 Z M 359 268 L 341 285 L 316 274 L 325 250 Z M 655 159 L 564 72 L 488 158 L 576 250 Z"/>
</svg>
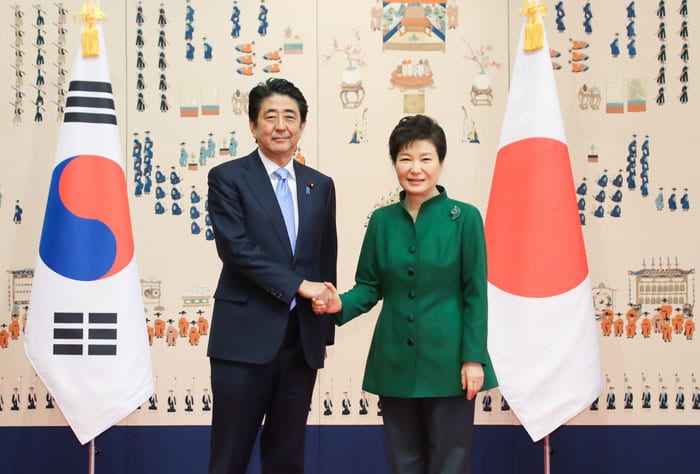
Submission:
<svg viewBox="0 0 700 474">
<path fill-rule="evenodd" d="M 428 199 L 438 193 L 438 177 L 442 163 L 430 140 L 415 140 L 396 156 L 396 177 L 412 198 Z"/>
</svg>

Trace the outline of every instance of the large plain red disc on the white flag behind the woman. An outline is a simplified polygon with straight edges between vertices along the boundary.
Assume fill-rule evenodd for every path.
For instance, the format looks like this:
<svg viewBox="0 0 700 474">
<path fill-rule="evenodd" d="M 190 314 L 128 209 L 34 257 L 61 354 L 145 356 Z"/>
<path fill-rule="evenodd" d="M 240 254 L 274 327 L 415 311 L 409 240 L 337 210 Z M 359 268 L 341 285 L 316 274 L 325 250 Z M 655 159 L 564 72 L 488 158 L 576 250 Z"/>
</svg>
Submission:
<svg viewBox="0 0 700 474">
<path fill-rule="evenodd" d="M 489 282 L 525 297 L 548 297 L 588 275 L 565 143 L 528 138 L 498 152 L 486 212 Z"/>
</svg>

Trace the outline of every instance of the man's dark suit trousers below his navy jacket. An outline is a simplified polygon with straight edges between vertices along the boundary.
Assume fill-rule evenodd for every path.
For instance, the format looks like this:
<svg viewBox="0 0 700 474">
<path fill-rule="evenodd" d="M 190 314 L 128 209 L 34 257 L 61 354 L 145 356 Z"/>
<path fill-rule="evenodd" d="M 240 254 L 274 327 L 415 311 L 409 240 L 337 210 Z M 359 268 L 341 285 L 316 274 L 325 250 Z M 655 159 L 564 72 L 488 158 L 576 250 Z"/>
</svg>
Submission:
<svg viewBox="0 0 700 474">
<path fill-rule="evenodd" d="M 304 358 L 296 311 L 267 364 L 211 358 L 213 392 L 209 474 L 245 474 L 260 436 L 263 474 L 303 474 L 306 420 L 316 369 Z"/>
</svg>

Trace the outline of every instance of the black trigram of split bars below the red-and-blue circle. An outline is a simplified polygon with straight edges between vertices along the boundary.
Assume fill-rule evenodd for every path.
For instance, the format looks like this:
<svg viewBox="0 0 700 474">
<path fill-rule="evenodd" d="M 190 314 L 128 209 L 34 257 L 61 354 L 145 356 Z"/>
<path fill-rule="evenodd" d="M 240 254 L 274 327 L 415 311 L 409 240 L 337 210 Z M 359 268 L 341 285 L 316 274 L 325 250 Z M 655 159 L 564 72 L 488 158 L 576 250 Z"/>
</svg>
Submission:
<svg viewBox="0 0 700 474">
<path fill-rule="evenodd" d="M 117 313 L 53 314 L 54 355 L 117 355 Z M 87 335 L 87 337 L 85 337 Z"/>
</svg>

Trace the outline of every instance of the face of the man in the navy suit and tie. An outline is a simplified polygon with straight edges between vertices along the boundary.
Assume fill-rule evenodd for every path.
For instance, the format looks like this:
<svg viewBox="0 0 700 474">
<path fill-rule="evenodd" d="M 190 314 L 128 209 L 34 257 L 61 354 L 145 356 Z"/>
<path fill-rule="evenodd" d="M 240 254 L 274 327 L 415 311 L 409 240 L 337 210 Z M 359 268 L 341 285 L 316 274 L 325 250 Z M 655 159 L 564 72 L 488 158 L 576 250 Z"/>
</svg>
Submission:
<svg viewBox="0 0 700 474">
<path fill-rule="evenodd" d="M 250 122 L 250 131 L 263 154 L 284 166 L 296 151 L 305 125 L 296 100 L 275 94 L 263 100 L 257 120 Z"/>
</svg>

